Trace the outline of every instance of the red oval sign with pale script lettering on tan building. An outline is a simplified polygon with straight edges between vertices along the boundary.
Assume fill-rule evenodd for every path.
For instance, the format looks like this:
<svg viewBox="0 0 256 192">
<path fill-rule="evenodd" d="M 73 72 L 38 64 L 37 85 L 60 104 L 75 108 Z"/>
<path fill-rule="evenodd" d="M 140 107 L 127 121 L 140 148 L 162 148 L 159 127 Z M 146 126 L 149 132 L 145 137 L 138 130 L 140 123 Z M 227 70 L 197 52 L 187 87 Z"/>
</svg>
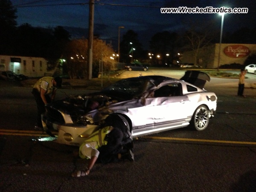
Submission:
<svg viewBox="0 0 256 192">
<path fill-rule="evenodd" d="M 233 58 L 246 57 L 250 53 L 250 49 L 244 45 L 229 45 L 224 48 L 225 55 Z"/>
</svg>

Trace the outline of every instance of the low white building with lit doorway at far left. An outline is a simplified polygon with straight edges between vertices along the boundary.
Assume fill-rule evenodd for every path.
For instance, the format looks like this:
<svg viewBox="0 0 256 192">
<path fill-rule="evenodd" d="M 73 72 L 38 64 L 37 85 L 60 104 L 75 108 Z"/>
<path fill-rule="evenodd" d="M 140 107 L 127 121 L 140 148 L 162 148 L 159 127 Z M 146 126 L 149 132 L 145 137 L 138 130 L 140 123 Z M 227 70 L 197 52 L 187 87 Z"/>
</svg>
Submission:
<svg viewBox="0 0 256 192">
<path fill-rule="evenodd" d="M 49 73 L 44 58 L 10 55 L 0 55 L 0 71 L 12 71 L 28 77 L 43 77 Z"/>
</svg>

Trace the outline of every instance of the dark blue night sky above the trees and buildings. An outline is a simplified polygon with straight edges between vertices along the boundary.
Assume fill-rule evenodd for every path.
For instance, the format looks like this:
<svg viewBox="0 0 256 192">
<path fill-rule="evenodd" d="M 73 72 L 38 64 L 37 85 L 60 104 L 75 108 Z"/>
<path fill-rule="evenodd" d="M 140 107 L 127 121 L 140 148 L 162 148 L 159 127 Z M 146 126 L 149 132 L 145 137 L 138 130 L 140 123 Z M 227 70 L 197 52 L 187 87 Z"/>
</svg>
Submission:
<svg viewBox="0 0 256 192">
<path fill-rule="evenodd" d="M 11 0 L 17 8 L 17 24 L 29 23 L 32 26 L 64 26 L 73 31 L 85 29 L 87 33 L 89 0 Z M 82 5 L 82 3 L 84 3 Z M 226 14 L 224 32 L 233 32 L 241 27 L 256 27 L 256 0 L 95 0 L 94 34 L 113 44 L 118 40 L 118 27 L 121 38 L 132 29 L 145 49 L 151 37 L 157 32 L 184 32 L 190 21 L 200 27 L 213 20 L 220 30 L 221 16 L 218 14 L 161 14 L 162 7 L 207 7 L 248 8 L 247 14 Z M 83 32 L 83 30 L 82 30 Z M 71 34 L 74 36 L 74 34 Z M 79 33 L 81 35 L 81 32 Z M 84 34 L 87 38 L 87 34 Z M 121 39 L 122 40 L 122 39 Z"/>
</svg>

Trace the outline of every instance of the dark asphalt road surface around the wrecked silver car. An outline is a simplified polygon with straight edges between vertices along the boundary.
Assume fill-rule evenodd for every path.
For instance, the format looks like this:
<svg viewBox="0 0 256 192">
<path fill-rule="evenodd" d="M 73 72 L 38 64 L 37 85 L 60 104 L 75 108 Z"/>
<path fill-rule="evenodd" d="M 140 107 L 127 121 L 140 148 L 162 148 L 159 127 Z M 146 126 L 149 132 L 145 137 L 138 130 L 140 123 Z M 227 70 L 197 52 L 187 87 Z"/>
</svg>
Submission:
<svg viewBox="0 0 256 192">
<path fill-rule="evenodd" d="M 207 84 L 218 104 L 206 130 L 140 137 L 134 141 L 134 163 L 96 164 L 81 178 L 70 177 L 87 163 L 73 157 L 75 148 L 32 141 L 44 133 L 33 129 L 31 89 L 0 81 L 0 192 L 256 191 L 256 92 L 246 88 L 246 98 L 236 96 L 236 81 L 212 78 Z M 85 91 L 61 89 L 58 98 Z"/>
</svg>

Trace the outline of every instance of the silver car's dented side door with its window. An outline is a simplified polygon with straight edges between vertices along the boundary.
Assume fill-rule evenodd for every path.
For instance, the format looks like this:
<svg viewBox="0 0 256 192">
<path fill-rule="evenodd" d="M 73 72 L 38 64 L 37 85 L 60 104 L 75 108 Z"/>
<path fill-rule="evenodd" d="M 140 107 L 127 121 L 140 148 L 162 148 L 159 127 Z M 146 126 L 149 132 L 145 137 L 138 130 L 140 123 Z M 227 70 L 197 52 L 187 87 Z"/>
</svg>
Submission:
<svg viewBox="0 0 256 192">
<path fill-rule="evenodd" d="M 145 110 L 151 114 L 153 126 L 146 130 L 158 128 L 171 128 L 183 124 L 187 114 L 184 113 L 189 106 L 189 98 L 182 94 L 180 83 L 169 83 L 158 87 L 154 97 L 145 99 Z"/>
</svg>

